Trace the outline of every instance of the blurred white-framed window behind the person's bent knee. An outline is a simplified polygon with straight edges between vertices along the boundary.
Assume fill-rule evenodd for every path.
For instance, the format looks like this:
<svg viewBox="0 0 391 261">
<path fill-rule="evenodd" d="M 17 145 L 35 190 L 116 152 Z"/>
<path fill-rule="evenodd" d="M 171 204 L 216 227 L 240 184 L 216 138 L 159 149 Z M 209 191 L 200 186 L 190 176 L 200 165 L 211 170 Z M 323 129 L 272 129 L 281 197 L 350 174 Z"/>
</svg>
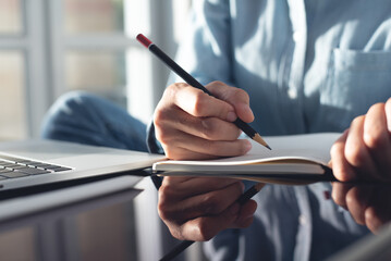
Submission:
<svg viewBox="0 0 391 261">
<path fill-rule="evenodd" d="M 0 140 L 39 137 L 46 111 L 70 90 L 103 96 L 148 122 L 169 70 L 135 36 L 145 34 L 173 55 L 188 5 L 0 0 L 0 96 L 7 100 L 0 103 Z"/>
</svg>

